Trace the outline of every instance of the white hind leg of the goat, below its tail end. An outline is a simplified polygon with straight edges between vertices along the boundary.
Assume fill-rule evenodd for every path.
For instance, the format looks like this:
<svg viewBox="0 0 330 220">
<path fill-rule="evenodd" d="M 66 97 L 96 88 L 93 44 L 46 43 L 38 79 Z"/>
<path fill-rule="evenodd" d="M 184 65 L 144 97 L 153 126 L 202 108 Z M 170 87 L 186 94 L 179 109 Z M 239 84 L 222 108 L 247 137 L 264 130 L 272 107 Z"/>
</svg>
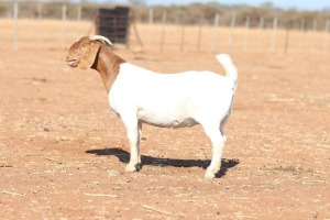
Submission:
<svg viewBox="0 0 330 220">
<path fill-rule="evenodd" d="M 206 170 L 205 177 L 215 178 L 221 167 L 222 151 L 224 147 L 226 136 L 220 132 L 219 127 L 204 125 L 204 130 L 212 143 L 213 156 L 211 164 Z"/>
</svg>

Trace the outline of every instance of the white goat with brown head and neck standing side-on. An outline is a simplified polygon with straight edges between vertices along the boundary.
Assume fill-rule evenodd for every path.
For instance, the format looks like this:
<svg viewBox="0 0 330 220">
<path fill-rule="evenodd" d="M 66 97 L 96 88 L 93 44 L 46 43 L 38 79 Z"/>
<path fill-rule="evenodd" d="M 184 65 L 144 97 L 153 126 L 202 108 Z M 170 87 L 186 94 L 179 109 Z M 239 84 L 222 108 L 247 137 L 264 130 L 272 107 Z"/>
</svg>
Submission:
<svg viewBox="0 0 330 220">
<path fill-rule="evenodd" d="M 125 172 L 141 168 L 142 123 L 161 128 L 201 124 L 213 155 L 205 176 L 213 178 L 221 166 L 224 124 L 231 113 L 238 70 L 227 54 L 217 55 L 227 76 L 212 72 L 160 74 L 127 63 L 110 50 L 105 36 L 84 36 L 74 43 L 67 65 L 99 72 L 111 110 L 124 123 L 131 148 Z"/>
</svg>

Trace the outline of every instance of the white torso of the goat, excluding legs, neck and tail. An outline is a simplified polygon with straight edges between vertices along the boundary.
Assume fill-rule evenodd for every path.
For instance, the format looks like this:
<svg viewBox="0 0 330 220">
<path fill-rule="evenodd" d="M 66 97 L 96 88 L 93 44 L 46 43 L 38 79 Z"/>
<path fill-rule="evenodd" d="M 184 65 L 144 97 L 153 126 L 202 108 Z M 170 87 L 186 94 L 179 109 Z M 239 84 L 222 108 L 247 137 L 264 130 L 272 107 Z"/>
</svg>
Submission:
<svg viewBox="0 0 330 220">
<path fill-rule="evenodd" d="M 229 78 L 211 72 L 156 74 L 124 63 L 109 103 L 121 117 L 135 116 L 157 127 L 190 127 L 229 114 L 232 87 Z"/>
</svg>

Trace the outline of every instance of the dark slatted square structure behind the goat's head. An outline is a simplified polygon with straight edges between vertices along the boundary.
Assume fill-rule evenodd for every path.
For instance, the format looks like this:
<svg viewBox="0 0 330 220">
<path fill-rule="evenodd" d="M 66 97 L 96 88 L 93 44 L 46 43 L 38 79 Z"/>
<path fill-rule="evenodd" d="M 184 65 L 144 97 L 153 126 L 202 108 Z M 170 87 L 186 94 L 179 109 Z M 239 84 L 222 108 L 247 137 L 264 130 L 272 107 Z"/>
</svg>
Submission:
<svg viewBox="0 0 330 220">
<path fill-rule="evenodd" d="M 96 18 L 96 32 L 112 43 L 129 43 L 130 8 L 99 9 Z"/>
</svg>

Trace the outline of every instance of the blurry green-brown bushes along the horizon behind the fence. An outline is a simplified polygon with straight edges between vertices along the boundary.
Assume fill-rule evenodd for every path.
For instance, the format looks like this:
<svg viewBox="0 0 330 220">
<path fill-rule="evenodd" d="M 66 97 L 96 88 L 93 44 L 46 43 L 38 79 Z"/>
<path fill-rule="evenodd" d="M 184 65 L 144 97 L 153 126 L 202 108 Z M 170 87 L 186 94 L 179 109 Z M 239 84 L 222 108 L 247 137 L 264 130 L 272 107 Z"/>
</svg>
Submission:
<svg viewBox="0 0 330 220">
<path fill-rule="evenodd" d="M 322 11 L 298 11 L 295 9 L 283 10 L 273 7 L 272 3 L 265 2 L 260 7 L 250 7 L 246 4 L 223 6 L 219 3 L 193 3 L 189 6 L 155 6 L 145 7 L 142 0 L 131 0 L 133 18 L 138 22 L 148 22 L 150 9 L 153 9 L 154 22 L 162 22 L 163 11 L 166 10 L 167 23 L 185 23 L 185 24 L 213 24 L 215 15 L 219 13 L 220 25 L 229 25 L 235 14 L 237 25 L 243 26 L 246 18 L 250 18 L 250 26 L 257 28 L 263 20 L 263 26 L 273 25 L 274 16 L 278 18 L 278 25 L 282 28 L 290 26 L 300 29 L 304 24 L 305 30 L 318 29 L 324 30 L 326 22 L 330 20 L 330 8 Z M 21 1 L 19 3 L 20 18 L 37 18 L 37 1 Z M 63 2 L 48 1 L 42 3 L 42 16 L 44 19 L 61 19 Z M 67 18 L 77 19 L 78 3 L 66 2 Z M 111 3 L 92 3 L 82 1 L 81 19 L 94 20 L 97 9 L 100 7 L 112 8 Z M 12 2 L 0 2 L 0 16 L 10 18 L 12 14 Z"/>
</svg>

